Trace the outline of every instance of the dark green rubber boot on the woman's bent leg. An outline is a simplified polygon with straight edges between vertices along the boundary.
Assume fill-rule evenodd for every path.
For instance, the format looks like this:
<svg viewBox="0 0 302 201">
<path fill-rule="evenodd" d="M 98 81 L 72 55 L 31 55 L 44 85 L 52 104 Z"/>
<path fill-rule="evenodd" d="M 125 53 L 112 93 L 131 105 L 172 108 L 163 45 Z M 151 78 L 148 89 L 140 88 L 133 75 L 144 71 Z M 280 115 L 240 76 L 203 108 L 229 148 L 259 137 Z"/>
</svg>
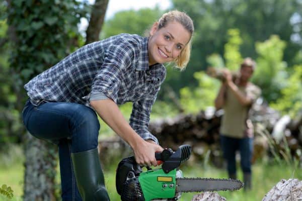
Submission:
<svg viewBox="0 0 302 201">
<path fill-rule="evenodd" d="M 98 149 L 71 153 L 75 179 L 84 201 L 109 201 Z"/>
</svg>

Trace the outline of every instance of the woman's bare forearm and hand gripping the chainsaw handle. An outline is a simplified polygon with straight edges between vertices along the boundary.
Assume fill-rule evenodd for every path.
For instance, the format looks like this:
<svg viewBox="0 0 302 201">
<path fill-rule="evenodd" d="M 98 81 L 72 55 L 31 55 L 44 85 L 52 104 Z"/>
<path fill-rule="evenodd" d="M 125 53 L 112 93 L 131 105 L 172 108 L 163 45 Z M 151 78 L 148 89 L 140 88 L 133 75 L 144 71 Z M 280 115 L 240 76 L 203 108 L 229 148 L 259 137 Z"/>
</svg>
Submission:
<svg viewBox="0 0 302 201">
<path fill-rule="evenodd" d="M 143 140 L 130 127 L 112 99 L 92 100 L 90 105 L 104 122 L 131 146 L 138 164 L 146 166 L 157 165 L 155 152 L 161 152 L 163 148 L 157 144 Z"/>
</svg>

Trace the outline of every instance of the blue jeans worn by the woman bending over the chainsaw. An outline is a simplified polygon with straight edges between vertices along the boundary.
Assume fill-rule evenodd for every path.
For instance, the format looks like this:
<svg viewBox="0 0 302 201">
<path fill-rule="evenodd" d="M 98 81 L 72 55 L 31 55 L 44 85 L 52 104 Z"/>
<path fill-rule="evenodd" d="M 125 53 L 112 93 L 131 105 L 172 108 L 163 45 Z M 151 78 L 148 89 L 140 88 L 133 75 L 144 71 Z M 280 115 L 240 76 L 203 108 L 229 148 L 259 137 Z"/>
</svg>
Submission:
<svg viewBox="0 0 302 201">
<path fill-rule="evenodd" d="M 28 100 L 22 117 L 33 136 L 59 147 L 62 200 L 82 200 L 70 154 L 97 148 L 100 124 L 96 113 L 81 104 L 51 102 L 35 107 Z"/>
</svg>

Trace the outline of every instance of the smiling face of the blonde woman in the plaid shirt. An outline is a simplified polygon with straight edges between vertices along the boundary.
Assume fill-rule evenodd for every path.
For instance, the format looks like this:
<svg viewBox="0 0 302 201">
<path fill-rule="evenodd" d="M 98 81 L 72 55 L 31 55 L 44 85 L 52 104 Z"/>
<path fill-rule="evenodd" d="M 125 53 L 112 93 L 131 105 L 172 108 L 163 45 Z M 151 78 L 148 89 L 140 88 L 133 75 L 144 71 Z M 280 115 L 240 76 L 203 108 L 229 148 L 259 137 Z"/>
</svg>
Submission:
<svg viewBox="0 0 302 201">
<path fill-rule="evenodd" d="M 155 23 L 148 41 L 149 65 L 174 61 L 190 38 L 190 32 L 178 22 L 170 22 L 161 29 Z"/>
</svg>

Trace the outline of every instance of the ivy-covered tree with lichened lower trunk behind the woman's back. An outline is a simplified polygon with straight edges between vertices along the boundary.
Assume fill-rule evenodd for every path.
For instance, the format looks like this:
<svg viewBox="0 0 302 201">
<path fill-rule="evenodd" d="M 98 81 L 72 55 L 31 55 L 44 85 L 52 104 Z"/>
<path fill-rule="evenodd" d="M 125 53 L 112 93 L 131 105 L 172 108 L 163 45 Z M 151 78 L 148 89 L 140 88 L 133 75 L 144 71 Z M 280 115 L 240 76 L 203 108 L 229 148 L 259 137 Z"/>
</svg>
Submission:
<svg viewBox="0 0 302 201">
<path fill-rule="evenodd" d="M 23 85 L 81 46 L 77 24 L 87 10 L 85 2 L 75 0 L 8 0 L 7 7 L 14 108 L 21 114 Z M 55 200 L 56 147 L 27 134 L 25 156 L 24 200 Z"/>
</svg>

